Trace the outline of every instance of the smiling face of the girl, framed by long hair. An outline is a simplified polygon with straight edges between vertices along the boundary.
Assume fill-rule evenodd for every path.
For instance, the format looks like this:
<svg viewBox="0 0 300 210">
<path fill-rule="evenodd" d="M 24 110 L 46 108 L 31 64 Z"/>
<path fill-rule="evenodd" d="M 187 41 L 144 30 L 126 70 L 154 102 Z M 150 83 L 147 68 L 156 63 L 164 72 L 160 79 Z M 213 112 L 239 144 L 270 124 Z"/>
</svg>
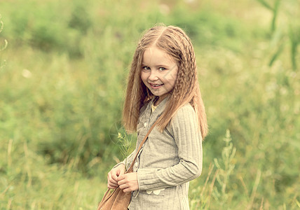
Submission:
<svg viewBox="0 0 300 210">
<path fill-rule="evenodd" d="M 143 55 L 141 78 L 143 83 L 155 96 L 159 104 L 175 85 L 177 63 L 163 50 L 156 46 L 147 48 Z"/>
</svg>

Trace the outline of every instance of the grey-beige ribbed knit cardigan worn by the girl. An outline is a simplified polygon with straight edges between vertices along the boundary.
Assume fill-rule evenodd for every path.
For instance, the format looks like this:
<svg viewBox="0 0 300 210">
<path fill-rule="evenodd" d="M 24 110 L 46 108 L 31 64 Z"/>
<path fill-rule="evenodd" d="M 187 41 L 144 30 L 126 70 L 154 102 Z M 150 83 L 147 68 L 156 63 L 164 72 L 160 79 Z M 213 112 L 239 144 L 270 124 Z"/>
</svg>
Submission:
<svg viewBox="0 0 300 210">
<path fill-rule="evenodd" d="M 168 97 L 151 113 L 153 102 L 154 99 L 141 109 L 137 145 L 128 156 L 128 165 L 150 127 L 163 113 Z M 137 172 L 139 190 L 132 192 L 130 210 L 189 209 L 189 181 L 202 171 L 202 137 L 191 104 L 180 108 L 163 132 L 154 127 L 133 169 Z"/>
</svg>

